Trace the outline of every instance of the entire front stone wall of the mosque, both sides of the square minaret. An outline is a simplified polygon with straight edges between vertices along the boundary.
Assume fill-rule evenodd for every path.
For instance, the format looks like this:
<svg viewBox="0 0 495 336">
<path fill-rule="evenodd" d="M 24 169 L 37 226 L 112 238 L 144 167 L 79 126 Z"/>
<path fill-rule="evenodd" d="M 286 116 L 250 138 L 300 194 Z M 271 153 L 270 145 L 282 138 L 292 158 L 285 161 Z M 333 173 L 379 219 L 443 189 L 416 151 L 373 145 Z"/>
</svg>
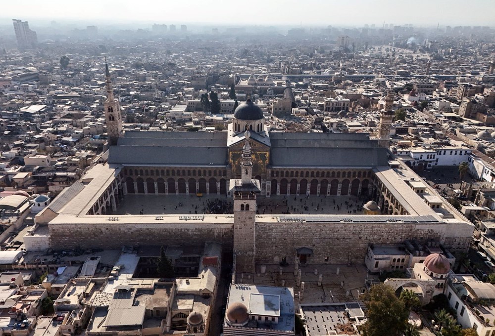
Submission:
<svg viewBox="0 0 495 336">
<path fill-rule="evenodd" d="M 460 224 L 403 223 L 256 223 L 256 264 L 277 264 L 283 257 L 293 263 L 296 249 L 314 254 L 309 263 L 364 262 L 368 244 L 398 244 L 406 239 L 422 243 L 435 239 L 451 252 L 465 252 L 474 226 Z M 120 249 L 139 245 L 203 245 L 217 242 L 233 247 L 232 224 L 49 224 L 50 247 Z"/>
</svg>

